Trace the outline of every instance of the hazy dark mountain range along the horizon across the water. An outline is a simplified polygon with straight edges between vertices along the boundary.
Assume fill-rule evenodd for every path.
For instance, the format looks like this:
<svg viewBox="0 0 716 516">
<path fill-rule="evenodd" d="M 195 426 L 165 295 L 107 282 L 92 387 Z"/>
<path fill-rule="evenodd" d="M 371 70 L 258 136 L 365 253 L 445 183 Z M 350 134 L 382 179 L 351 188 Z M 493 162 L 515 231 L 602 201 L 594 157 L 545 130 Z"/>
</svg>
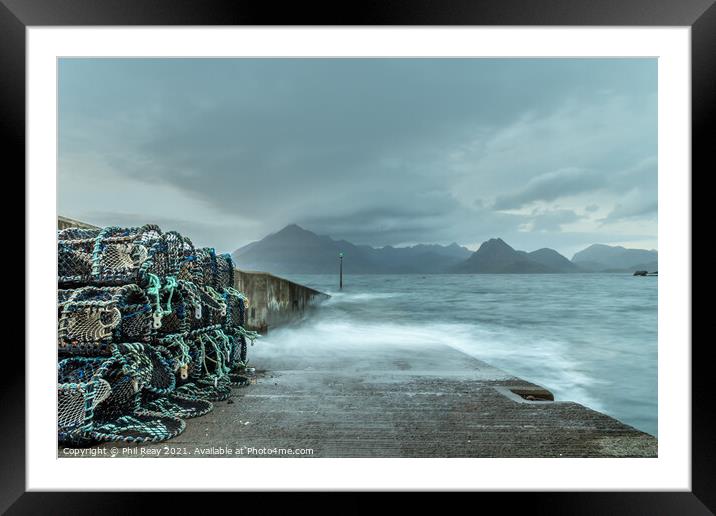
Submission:
<svg viewBox="0 0 716 516">
<path fill-rule="evenodd" d="M 657 270 L 656 251 L 625 249 L 595 244 L 576 253 L 572 260 L 554 249 L 518 251 L 501 238 L 483 242 L 472 252 L 456 243 L 419 244 L 410 247 L 371 247 L 334 240 L 301 228 L 286 226 L 262 240 L 232 253 L 244 270 L 277 274 L 331 274 L 338 255 L 345 256 L 346 274 L 439 274 L 439 273 L 570 273 L 633 272 Z"/>
</svg>

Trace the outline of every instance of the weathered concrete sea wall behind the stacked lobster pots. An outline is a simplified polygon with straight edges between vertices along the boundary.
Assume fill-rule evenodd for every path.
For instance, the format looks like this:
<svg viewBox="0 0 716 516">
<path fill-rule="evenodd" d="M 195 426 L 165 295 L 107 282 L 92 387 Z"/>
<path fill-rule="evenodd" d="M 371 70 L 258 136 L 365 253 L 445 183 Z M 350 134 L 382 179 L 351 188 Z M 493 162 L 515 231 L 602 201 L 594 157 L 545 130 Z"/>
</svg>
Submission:
<svg viewBox="0 0 716 516">
<path fill-rule="evenodd" d="M 67 217 L 57 217 L 57 229 L 97 228 Z M 249 300 L 247 329 L 268 332 L 303 318 L 317 303 L 330 296 L 273 274 L 234 269 L 234 288 Z"/>
</svg>

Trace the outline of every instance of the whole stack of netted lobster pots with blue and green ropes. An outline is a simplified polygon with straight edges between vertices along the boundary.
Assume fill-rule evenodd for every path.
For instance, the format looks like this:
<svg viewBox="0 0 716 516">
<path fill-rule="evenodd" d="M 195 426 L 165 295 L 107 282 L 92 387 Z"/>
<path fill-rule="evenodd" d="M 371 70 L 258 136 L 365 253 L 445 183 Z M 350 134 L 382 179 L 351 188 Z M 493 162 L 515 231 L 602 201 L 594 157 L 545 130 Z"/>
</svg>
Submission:
<svg viewBox="0 0 716 516">
<path fill-rule="evenodd" d="M 229 255 L 159 227 L 58 232 L 58 437 L 158 442 L 245 385 Z"/>
</svg>

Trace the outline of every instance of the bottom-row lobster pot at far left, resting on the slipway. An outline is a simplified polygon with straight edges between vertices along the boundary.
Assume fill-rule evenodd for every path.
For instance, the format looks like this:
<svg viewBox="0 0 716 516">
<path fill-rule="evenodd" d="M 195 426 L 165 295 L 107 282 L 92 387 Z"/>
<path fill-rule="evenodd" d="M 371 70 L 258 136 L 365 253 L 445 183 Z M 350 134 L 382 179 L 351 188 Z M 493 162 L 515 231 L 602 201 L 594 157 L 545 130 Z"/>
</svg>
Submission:
<svg viewBox="0 0 716 516">
<path fill-rule="evenodd" d="M 61 442 L 158 442 L 184 430 L 181 419 L 141 409 L 141 388 L 151 371 L 147 362 L 136 360 L 141 345 L 134 346 L 134 359 L 119 349 L 110 358 L 70 357 L 58 364 Z"/>
</svg>

